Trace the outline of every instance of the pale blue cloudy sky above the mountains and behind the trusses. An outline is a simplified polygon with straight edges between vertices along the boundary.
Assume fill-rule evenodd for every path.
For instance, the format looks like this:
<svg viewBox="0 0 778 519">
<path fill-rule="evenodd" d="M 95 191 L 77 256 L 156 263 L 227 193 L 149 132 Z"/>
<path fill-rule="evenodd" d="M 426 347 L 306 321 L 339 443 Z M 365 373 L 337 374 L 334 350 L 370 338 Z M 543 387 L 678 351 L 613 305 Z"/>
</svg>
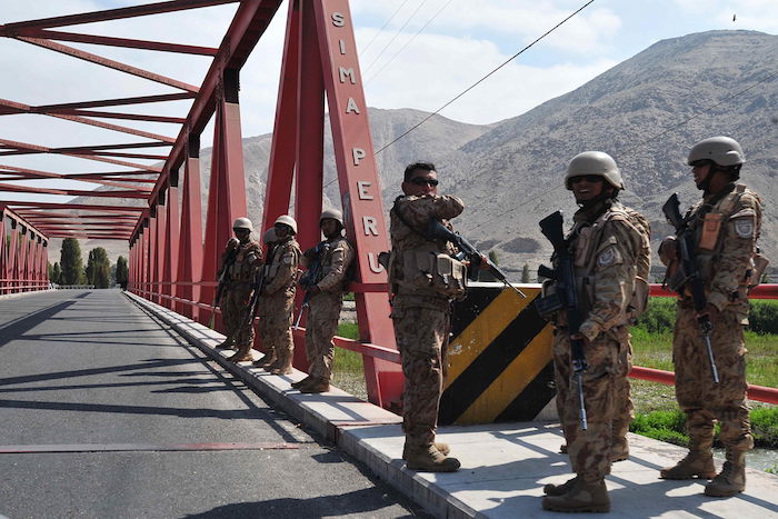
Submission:
<svg viewBox="0 0 778 519">
<path fill-rule="evenodd" d="M 0 0 L 0 23 L 138 3 L 151 2 Z M 587 3 L 440 113 L 475 124 L 497 122 L 580 87 L 662 39 L 719 29 L 778 33 L 777 0 L 351 0 L 367 102 L 382 109 L 436 111 Z M 227 4 L 56 30 L 218 47 L 235 11 L 236 4 Z M 283 2 L 241 72 L 243 137 L 272 131 L 286 12 Z M 64 43 L 198 86 L 210 64 L 203 57 Z M 7 38 L 0 38 L 0 99 L 27 104 L 174 91 Z M 131 111 L 184 117 L 188 106 L 184 101 L 147 104 Z M 171 124 L 109 122 L 178 134 L 178 127 Z M 209 128 L 203 147 L 211 146 L 210 136 Z M 30 114 L 0 117 L 0 138 L 49 147 L 139 140 Z M 47 154 L 0 157 L 0 164 L 62 173 L 121 169 Z M 30 184 L 93 187 L 71 181 Z M 20 198 L 0 191 L 0 200 Z"/>
</svg>

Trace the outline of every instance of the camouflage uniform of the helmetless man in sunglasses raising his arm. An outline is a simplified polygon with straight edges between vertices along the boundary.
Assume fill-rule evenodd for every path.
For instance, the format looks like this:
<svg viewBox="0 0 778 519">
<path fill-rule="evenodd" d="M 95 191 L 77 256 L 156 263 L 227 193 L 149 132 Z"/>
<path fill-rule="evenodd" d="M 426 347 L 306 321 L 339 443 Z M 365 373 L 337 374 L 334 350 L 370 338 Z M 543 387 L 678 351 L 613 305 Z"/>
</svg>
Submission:
<svg viewBox="0 0 778 519">
<path fill-rule="evenodd" d="M 435 443 L 443 379 L 441 348 L 448 338 L 451 300 L 431 288 L 409 286 L 410 273 L 403 272 L 403 256 L 430 248 L 453 253 L 449 242 L 430 242 L 420 232 L 427 229 L 430 218 L 447 223 L 445 220 L 457 217 L 463 209 L 457 197 L 426 194 L 399 197 L 390 211 L 389 283 L 395 295 L 391 318 L 406 379 L 402 429 L 406 445 L 411 448 Z"/>
</svg>

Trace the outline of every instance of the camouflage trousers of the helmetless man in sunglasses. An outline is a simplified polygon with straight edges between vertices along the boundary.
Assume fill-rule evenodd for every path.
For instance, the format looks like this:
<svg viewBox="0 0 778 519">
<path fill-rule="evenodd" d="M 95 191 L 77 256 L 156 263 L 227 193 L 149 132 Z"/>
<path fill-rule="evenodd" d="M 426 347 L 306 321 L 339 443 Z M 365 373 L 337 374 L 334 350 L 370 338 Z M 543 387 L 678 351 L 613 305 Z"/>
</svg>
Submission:
<svg viewBox="0 0 778 519">
<path fill-rule="evenodd" d="M 441 349 L 447 340 L 449 312 L 419 307 L 395 307 L 397 349 L 402 358 L 402 430 L 412 447 L 435 442 L 442 391 Z"/>
</svg>

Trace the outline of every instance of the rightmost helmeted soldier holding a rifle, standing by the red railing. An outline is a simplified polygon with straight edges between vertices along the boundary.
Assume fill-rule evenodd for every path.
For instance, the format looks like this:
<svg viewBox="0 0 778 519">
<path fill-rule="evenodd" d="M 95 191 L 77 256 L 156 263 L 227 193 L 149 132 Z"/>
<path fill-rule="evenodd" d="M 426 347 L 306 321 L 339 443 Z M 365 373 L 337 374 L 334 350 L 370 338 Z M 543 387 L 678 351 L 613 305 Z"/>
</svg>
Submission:
<svg viewBox="0 0 778 519">
<path fill-rule="evenodd" d="M 696 143 L 687 162 L 702 200 L 687 213 L 694 236 L 698 270 L 704 278 L 707 308 L 696 312 L 688 287 L 675 283 L 672 271 L 679 261 L 678 240 L 666 238 L 659 257 L 668 266 L 669 285 L 679 291 L 672 360 L 676 367 L 676 397 L 686 413 L 690 447 L 686 458 L 664 468 L 664 479 L 714 478 L 705 487 L 707 496 L 728 497 L 746 488 L 746 451 L 754 447 L 746 402 L 746 346 L 748 289 L 758 285 L 766 267 L 758 256 L 761 227 L 759 196 L 735 183 L 746 161 L 740 144 L 729 137 L 714 137 Z M 719 383 L 710 371 L 707 348 L 698 319 L 712 323 L 710 343 Z M 710 451 L 714 420 L 721 425 L 721 442 L 727 460 L 716 476 Z"/>
</svg>

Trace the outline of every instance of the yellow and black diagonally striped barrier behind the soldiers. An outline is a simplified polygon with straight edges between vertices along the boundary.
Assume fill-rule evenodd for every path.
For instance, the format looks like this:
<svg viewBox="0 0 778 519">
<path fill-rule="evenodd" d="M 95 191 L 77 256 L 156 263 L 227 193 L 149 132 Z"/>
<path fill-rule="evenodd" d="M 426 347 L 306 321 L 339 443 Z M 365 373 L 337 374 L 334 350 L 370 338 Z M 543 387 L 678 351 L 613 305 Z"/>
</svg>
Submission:
<svg viewBox="0 0 778 519">
<path fill-rule="evenodd" d="M 532 420 L 553 398 L 551 326 L 501 283 L 470 283 L 455 305 L 440 425 Z"/>
</svg>

